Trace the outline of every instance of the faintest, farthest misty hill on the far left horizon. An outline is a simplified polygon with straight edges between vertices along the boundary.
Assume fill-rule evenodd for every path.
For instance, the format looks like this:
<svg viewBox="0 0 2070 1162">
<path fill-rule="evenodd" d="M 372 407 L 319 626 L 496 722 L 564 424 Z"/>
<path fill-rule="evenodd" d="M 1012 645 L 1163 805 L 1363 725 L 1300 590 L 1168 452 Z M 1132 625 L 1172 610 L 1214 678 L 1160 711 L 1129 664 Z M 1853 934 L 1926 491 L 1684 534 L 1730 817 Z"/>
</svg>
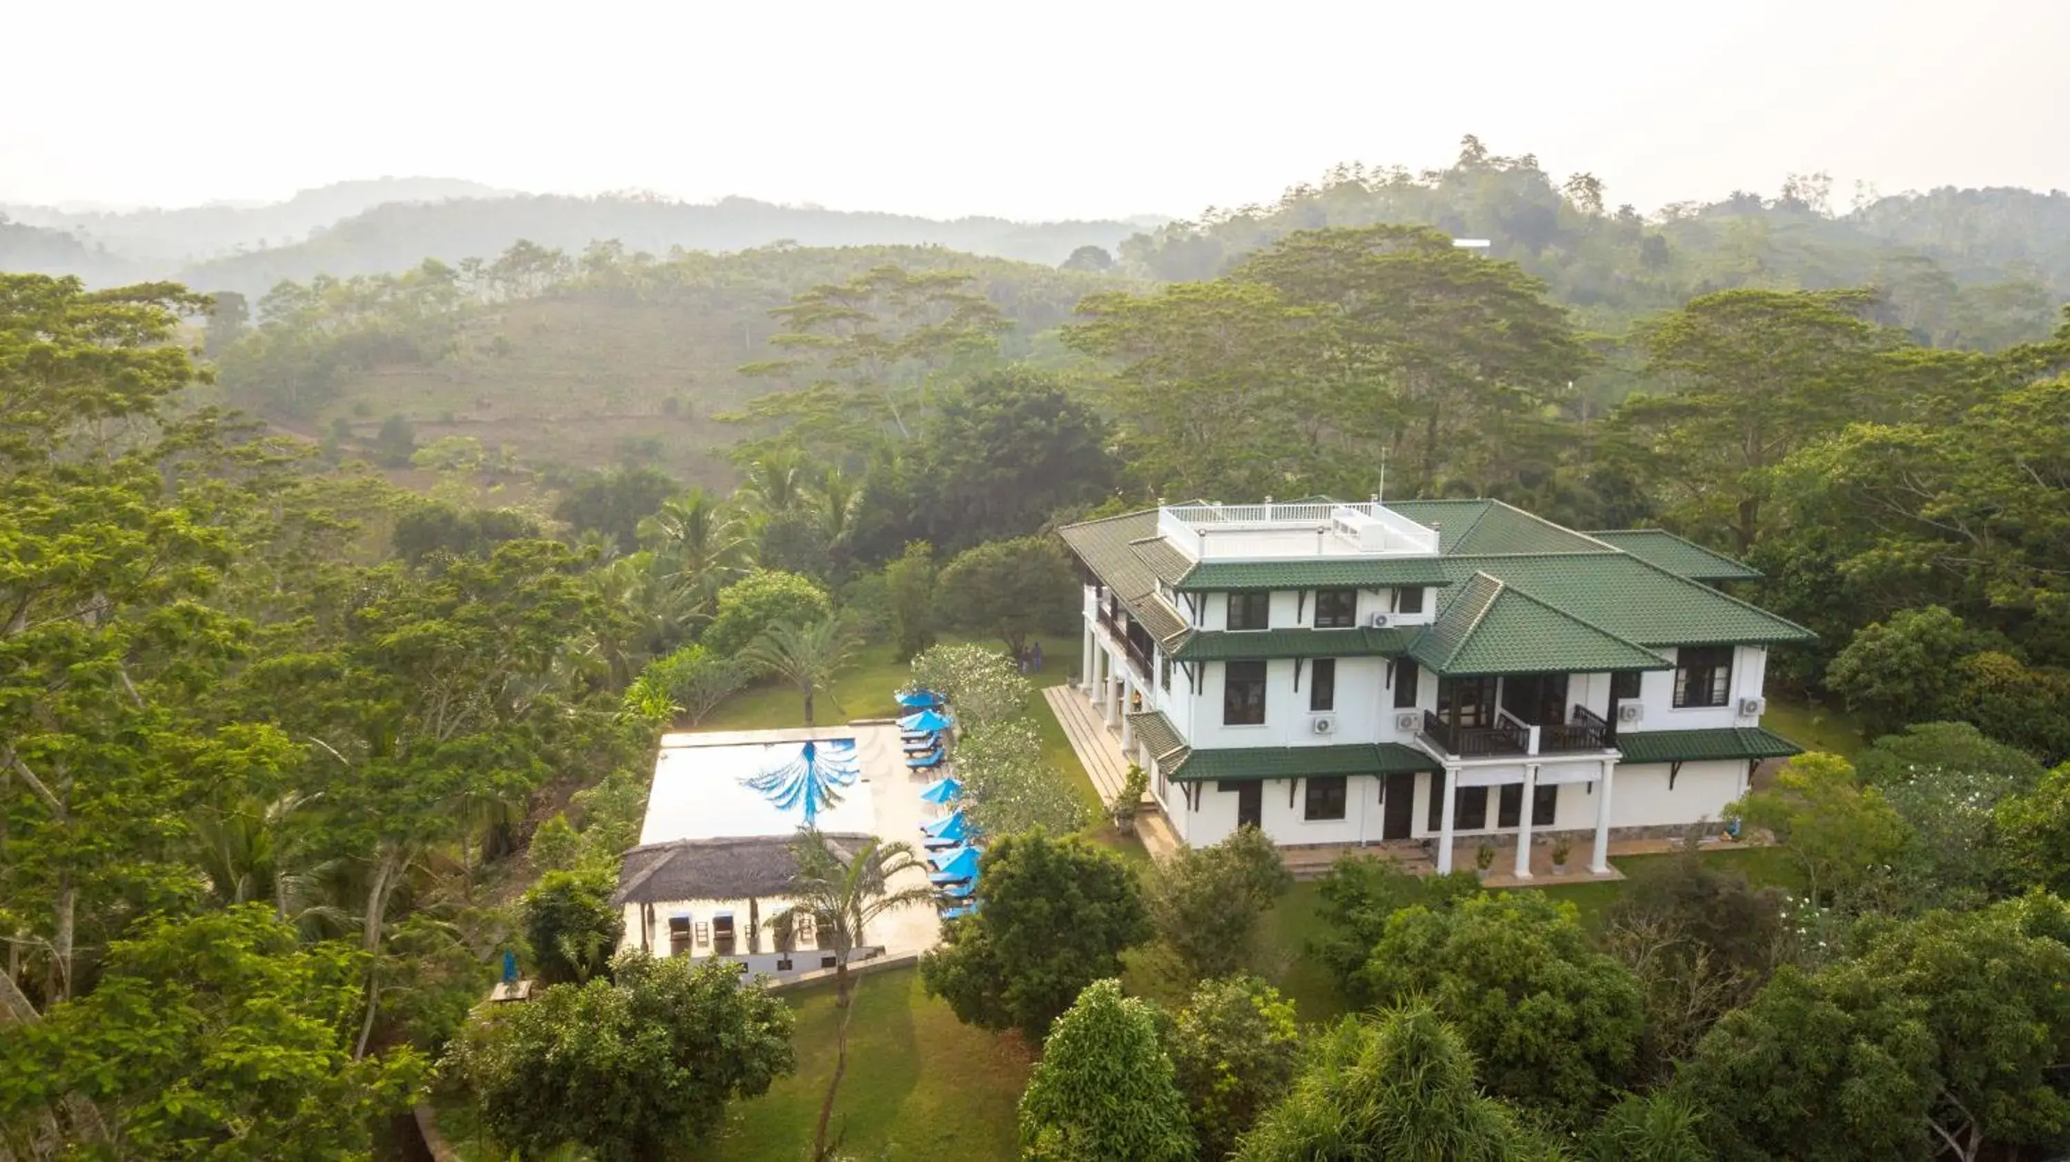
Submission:
<svg viewBox="0 0 2070 1162">
<path fill-rule="evenodd" d="M 315 230 L 389 203 L 437 203 L 499 197 L 509 191 L 460 178 L 373 178 L 331 182 L 271 205 L 195 205 L 186 209 L 66 211 L 6 205 L 14 222 L 64 230 L 130 263 L 170 275 L 174 267 L 240 246 L 286 246 Z M 68 271 L 70 273 L 70 271 Z"/>
</svg>

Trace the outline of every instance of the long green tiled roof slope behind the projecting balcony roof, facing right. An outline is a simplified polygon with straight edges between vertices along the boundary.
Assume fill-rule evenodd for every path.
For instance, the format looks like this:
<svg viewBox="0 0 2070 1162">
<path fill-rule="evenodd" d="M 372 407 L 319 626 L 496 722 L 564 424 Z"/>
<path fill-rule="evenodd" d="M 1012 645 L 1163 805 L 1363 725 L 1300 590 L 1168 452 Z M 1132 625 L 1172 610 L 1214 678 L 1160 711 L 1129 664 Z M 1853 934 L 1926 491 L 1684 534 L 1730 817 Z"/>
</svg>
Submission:
<svg viewBox="0 0 2070 1162">
<path fill-rule="evenodd" d="M 1629 553 L 1443 557 L 1453 584 L 1486 572 L 1639 646 L 1803 642 L 1811 630 Z M 1443 594 L 1445 590 L 1441 590 Z"/>
</svg>

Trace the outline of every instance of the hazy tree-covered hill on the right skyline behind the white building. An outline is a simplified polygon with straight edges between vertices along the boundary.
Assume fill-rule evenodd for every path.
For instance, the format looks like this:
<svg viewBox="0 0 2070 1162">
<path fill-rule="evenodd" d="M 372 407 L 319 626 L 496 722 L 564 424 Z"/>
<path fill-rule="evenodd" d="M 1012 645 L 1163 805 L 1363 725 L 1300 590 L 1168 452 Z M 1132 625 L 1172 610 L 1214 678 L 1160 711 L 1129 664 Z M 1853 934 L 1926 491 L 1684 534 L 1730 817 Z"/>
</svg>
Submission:
<svg viewBox="0 0 2070 1162">
<path fill-rule="evenodd" d="M 1830 180 L 1793 176 L 1774 197 L 1735 193 L 1654 215 L 1615 205 L 1596 178 L 1561 184 L 1530 153 L 1468 137 L 1445 170 L 1339 166 L 1271 205 L 1172 222 L 1130 238 L 1130 273 L 1215 278 L 1294 230 L 1426 224 L 1486 238 L 1488 255 L 1546 280 L 1579 317 L 1621 333 L 1633 319 L 1741 286 L 1875 286 L 1919 342 L 1995 350 L 2045 338 L 2070 300 L 2070 195 L 1940 188 L 1828 205 Z"/>
</svg>

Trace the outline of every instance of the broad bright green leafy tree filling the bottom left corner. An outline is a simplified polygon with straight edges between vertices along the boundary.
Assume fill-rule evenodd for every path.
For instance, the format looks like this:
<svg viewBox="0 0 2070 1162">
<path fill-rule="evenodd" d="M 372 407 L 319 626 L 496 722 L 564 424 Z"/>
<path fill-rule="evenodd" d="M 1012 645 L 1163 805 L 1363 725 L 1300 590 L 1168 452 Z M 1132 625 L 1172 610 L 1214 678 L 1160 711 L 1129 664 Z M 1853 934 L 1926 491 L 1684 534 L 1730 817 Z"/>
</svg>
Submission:
<svg viewBox="0 0 2070 1162">
<path fill-rule="evenodd" d="M 426 1069 L 410 1050 L 352 1058 L 356 959 L 304 947 L 265 903 L 141 924 L 91 994 L 0 1038 L 0 1143 L 72 1116 L 106 1135 L 83 1156 L 366 1158 L 375 1121 L 406 1110 Z"/>
</svg>

